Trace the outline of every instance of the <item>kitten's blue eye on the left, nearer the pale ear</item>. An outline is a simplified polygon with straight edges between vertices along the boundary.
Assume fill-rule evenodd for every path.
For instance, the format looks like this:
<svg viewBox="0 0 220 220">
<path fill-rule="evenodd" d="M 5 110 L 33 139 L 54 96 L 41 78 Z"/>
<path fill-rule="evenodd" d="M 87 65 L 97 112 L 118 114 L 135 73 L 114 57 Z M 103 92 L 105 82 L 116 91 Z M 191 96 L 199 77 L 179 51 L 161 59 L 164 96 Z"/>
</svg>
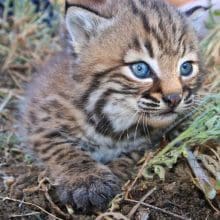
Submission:
<svg viewBox="0 0 220 220">
<path fill-rule="evenodd" d="M 144 62 L 134 63 L 131 65 L 133 74 L 139 79 L 146 79 L 150 77 L 151 69 L 149 65 Z"/>
</svg>

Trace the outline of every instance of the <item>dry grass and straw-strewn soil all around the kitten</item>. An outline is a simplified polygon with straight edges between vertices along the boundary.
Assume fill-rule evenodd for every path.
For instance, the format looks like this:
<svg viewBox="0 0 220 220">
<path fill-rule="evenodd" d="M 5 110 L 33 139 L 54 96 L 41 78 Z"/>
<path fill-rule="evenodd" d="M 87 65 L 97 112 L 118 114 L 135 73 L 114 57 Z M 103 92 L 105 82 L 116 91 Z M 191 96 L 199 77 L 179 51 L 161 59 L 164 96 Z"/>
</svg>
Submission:
<svg viewBox="0 0 220 220">
<path fill-rule="evenodd" d="M 25 20 L 19 19 L 19 22 Z M 146 162 L 151 153 L 146 154 L 142 162 L 137 164 L 134 178 L 125 184 L 123 194 L 113 200 L 106 213 L 76 215 L 71 207 L 63 207 L 55 197 L 49 178 L 22 151 L 22 143 L 16 135 L 18 104 L 23 99 L 23 85 L 30 80 L 35 67 L 45 57 L 59 50 L 57 32 L 54 28 L 52 33 L 48 30 L 41 36 L 39 31 L 45 28 L 44 25 L 26 25 L 25 30 L 20 30 L 19 25 L 22 25 L 18 20 L 13 24 L 16 33 L 13 28 L 10 30 L 10 26 L 0 23 L 9 36 L 6 40 L 4 34 L 0 33 L 0 60 L 3 60 L 0 61 L 0 219 L 220 219 L 220 195 L 212 201 L 206 199 L 195 184 L 185 158 L 178 159 L 171 169 L 166 170 L 164 180 L 159 177 L 144 179 L 140 170 L 143 161 Z M 30 18 L 28 21 L 31 23 Z M 217 38 L 212 39 L 214 47 L 209 42 L 209 49 L 212 49 L 209 51 L 207 65 L 212 74 L 204 86 L 209 91 L 211 87 L 219 85 L 218 31 Z M 164 146 L 164 142 L 161 142 Z M 215 143 L 213 148 L 219 148 L 219 144 Z"/>
</svg>

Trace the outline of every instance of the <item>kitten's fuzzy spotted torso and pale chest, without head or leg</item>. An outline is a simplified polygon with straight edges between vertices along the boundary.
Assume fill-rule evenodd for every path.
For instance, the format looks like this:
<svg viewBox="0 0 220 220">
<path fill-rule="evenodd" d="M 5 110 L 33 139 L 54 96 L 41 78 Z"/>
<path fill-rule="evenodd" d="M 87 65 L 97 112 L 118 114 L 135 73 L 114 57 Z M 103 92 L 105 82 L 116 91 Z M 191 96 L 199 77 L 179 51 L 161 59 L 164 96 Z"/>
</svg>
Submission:
<svg viewBox="0 0 220 220">
<path fill-rule="evenodd" d="M 26 115 L 28 135 L 33 134 L 34 138 L 31 140 L 36 140 L 37 145 L 43 145 L 44 135 L 56 131 L 51 136 L 56 138 L 57 133 L 60 133 L 64 139 L 79 143 L 83 150 L 90 152 L 94 160 L 102 163 L 107 163 L 122 153 L 150 145 L 149 130 L 143 130 L 143 124 L 136 126 L 130 123 L 129 117 L 127 121 L 118 118 L 117 126 L 120 123 L 127 125 L 128 130 L 124 132 L 113 132 L 104 122 L 94 126 L 95 119 L 82 112 L 81 103 L 78 103 L 83 93 L 76 89 L 71 75 L 67 74 L 72 70 L 71 56 L 61 53 L 47 65 L 30 84 L 25 104 L 25 111 L 29 112 Z M 91 108 L 95 102 L 94 98 L 86 109 Z M 101 131 L 97 132 L 96 129 Z M 50 154 L 45 152 L 44 156 L 49 157 Z"/>
</svg>

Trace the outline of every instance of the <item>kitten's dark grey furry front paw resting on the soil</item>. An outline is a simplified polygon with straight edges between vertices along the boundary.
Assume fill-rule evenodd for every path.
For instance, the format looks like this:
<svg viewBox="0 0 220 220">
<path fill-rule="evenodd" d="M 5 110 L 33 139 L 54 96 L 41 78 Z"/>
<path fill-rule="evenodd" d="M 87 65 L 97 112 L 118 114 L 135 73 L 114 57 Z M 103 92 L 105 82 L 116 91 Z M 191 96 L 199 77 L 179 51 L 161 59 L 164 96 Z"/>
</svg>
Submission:
<svg viewBox="0 0 220 220">
<path fill-rule="evenodd" d="M 70 182 L 58 187 L 59 196 L 62 202 L 83 213 L 105 210 L 121 191 L 117 177 L 106 170 L 75 176 Z"/>
</svg>

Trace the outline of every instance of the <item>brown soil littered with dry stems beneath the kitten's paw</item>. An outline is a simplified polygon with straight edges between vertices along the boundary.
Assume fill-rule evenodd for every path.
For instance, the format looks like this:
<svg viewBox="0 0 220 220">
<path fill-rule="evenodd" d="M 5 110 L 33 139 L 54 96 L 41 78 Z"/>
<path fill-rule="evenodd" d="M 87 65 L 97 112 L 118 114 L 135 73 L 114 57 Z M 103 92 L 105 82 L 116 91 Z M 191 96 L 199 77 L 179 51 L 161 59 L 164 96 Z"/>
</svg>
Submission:
<svg viewBox="0 0 220 220">
<path fill-rule="evenodd" d="M 16 102 L 12 102 L 8 113 L 13 115 L 15 110 Z M 11 121 L 4 117 L 0 119 L 5 128 L 3 131 L 2 126 L 1 137 L 7 137 L 4 140 L 0 138 L 0 219 L 96 219 L 97 215 L 71 214 L 71 209 L 68 213 L 67 207 L 59 204 L 53 187 L 43 178 L 46 174 L 19 148 L 20 143 L 12 132 L 15 119 L 10 118 Z M 139 205 L 131 214 L 136 201 L 140 201 L 149 191 L 151 194 L 143 202 L 153 207 Z M 116 214 L 115 217 L 105 216 L 100 219 L 125 219 L 125 216 L 137 220 L 220 219 L 219 213 L 193 183 L 191 171 L 184 159 L 166 173 L 165 181 L 140 178 L 128 199 L 115 199 L 113 204 L 111 211 L 119 212 L 122 216 Z M 220 197 L 213 204 L 220 209 Z"/>
</svg>

